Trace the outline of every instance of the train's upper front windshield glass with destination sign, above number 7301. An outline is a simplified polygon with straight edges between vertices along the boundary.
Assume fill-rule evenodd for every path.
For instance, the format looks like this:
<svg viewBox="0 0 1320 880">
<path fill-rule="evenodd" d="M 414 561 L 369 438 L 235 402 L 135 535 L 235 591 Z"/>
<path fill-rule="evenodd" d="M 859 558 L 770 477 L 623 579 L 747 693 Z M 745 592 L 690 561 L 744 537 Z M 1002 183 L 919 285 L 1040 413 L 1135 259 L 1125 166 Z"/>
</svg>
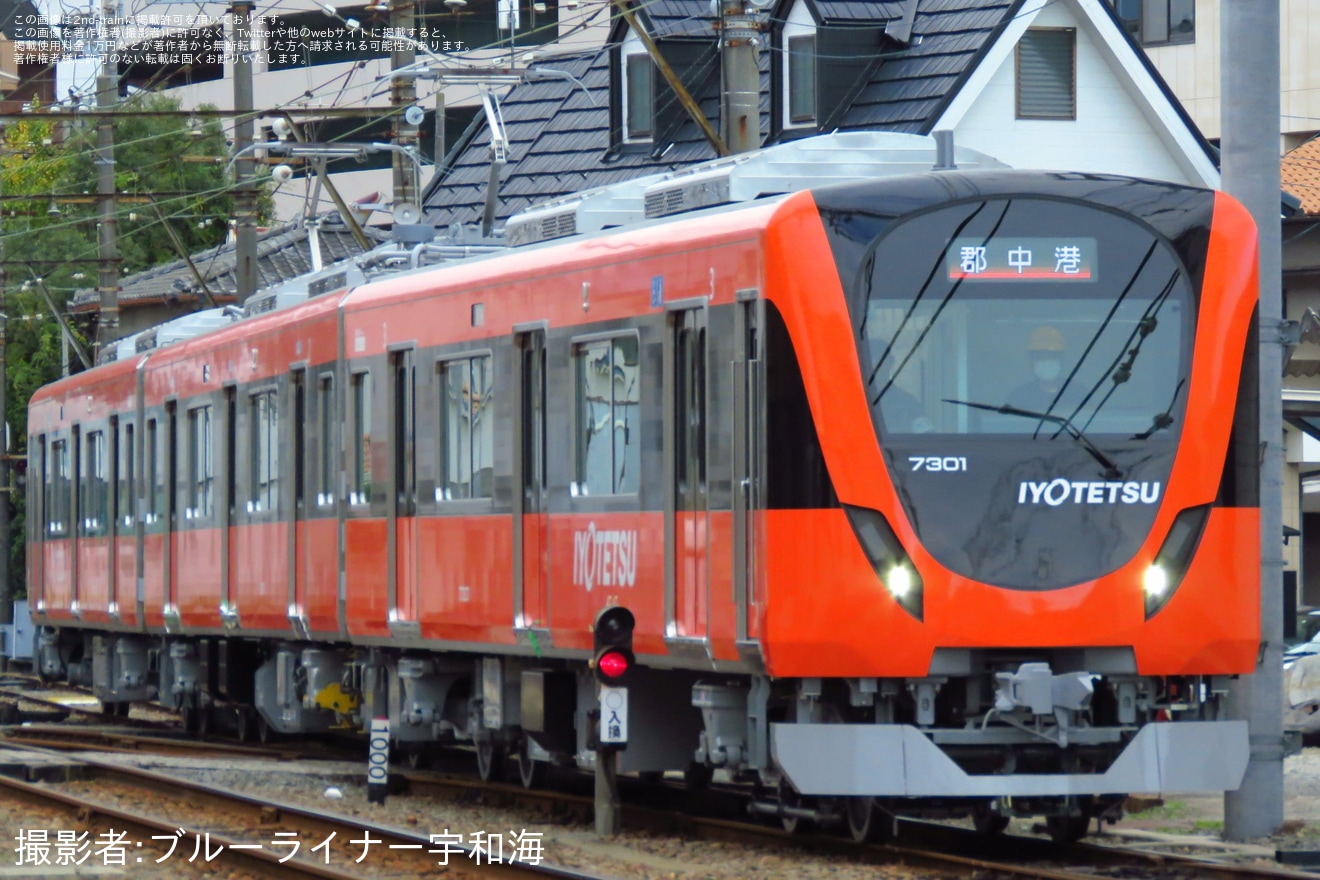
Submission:
<svg viewBox="0 0 1320 880">
<path fill-rule="evenodd" d="M 867 267 L 867 393 L 884 434 L 1176 434 L 1192 297 L 1171 248 L 1059 202 L 960 204 Z"/>
</svg>

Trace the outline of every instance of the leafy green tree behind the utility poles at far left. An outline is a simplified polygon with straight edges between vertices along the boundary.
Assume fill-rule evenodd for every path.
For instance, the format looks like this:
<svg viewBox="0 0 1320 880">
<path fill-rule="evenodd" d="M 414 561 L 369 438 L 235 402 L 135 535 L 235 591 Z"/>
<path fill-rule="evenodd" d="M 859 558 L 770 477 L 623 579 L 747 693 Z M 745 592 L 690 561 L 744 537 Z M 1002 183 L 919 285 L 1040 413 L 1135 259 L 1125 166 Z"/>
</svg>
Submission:
<svg viewBox="0 0 1320 880">
<path fill-rule="evenodd" d="M 143 92 L 119 110 L 177 112 L 180 104 Z M 121 278 L 177 260 L 181 255 L 176 237 L 189 253 L 223 243 L 234 212 L 223 164 L 227 154 L 224 132 L 214 120 L 125 113 L 115 121 L 116 193 L 186 194 L 116 204 Z M 63 314 L 75 290 L 96 285 L 96 170 L 95 120 L 77 113 L 54 119 L 42 113 L 4 128 L 0 191 L 9 201 L 0 203 L 4 211 L 0 270 L 5 292 L 0 311 L 8 315 L 5 418 L 15 455 L 26 451 L 28 401 L 61 373 L 61 331 L 44 294 Z M 271 197 L 263 191 L 257 204 L 261 219 L 267 219 L 272 212 Z M 74 332 L 81 338 L 92 335 L 90 327 L 75 327 Z M 73 369 L 78 367 L 77 361 L 71 364 Z M 40 475 L 33 471 L 30 479 L 36 482 Z M 16 493 L 13 501 L 11 586 L 21 596 L 22 493 Z"/>
</svg>

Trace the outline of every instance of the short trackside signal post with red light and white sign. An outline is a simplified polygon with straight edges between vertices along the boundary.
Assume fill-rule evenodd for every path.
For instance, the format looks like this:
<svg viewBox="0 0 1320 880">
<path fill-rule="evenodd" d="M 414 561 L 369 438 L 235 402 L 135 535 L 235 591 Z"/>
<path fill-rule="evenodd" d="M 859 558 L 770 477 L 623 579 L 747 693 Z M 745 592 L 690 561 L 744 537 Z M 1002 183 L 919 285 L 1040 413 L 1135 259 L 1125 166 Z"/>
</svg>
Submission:
<svg viewBox="0 0 1320 880">
<path fill-rule="evenodd" d="M 595 652 L 591 669 L 599 695 L 595 736 L 595 833 L 612 838 L 623 825 L 619 803 L 618 757 L 628 747 L 628 673 L 632 672 L 632 629 L 636 619 L 619 606 L 601 608 L 591 627 Z"/>
</svg>

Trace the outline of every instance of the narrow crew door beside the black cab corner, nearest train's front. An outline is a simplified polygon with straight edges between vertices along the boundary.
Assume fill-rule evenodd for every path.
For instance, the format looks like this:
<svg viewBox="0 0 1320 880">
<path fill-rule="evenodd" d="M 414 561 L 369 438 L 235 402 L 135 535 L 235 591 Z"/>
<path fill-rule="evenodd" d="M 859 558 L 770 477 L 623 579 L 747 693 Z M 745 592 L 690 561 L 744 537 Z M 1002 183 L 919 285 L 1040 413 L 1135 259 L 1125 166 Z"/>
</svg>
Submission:
<svg viewBox="0 0 1320 880">
<path fill-rule="evenodd" d="M 734 606 L 739 648 L 760 637 L 762 376 L 760 299 L 739 290 L 734 314 Z"/>
</svg>

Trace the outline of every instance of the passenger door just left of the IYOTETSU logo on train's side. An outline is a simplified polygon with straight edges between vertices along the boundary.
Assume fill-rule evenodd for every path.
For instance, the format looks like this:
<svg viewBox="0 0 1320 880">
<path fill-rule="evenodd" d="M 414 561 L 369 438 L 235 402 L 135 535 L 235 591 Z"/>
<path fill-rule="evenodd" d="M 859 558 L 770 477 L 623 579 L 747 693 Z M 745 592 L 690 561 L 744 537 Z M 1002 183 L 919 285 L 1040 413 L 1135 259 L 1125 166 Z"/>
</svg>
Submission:
<svg viewBox="0 0 1320 880">
<path fill-rule="evenodd" d="M 545 480 L 545 329 L 515 327 L 519 392 L 513 503 L 513 625 L 548 629 Z"/>
</svg>

